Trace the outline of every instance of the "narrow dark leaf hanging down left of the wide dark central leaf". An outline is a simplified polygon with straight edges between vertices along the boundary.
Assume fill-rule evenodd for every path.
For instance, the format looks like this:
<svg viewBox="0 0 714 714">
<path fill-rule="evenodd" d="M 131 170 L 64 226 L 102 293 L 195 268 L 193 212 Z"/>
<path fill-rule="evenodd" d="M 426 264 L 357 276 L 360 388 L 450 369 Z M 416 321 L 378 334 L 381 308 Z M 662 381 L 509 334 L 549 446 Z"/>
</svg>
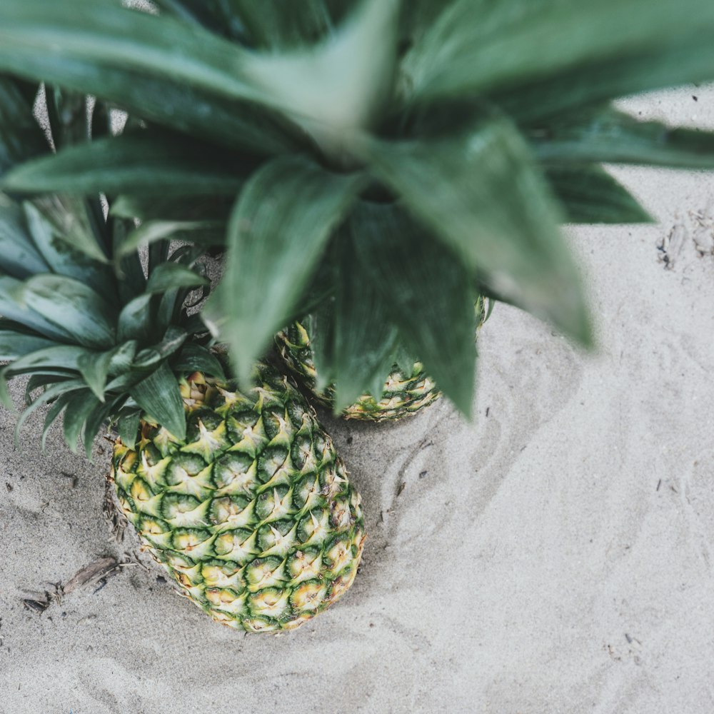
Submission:
<svg viewBox="0 0 714 714">
<path fill-rule="evenodd" d="M 397 329 L 389 320 L 390 304 L 383 293 L 358 269 L 353 236 L 338 236 L 333 363 L 335 368 L 334 411 L 341 413 L 365 392 L 376 377 L 381 398 L 384 378 L 391 367 Z M 356 240 L 361 240 L 358 234 Z M 372 256 L 373 258 L 373 256 Z"/>
</svg>

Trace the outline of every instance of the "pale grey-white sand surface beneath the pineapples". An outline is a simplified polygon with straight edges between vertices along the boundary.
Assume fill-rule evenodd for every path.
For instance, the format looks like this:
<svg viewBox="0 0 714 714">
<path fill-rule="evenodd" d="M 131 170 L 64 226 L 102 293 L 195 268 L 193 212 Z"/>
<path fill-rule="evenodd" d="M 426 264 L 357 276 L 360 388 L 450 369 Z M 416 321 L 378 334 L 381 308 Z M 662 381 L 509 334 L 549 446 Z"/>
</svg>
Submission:
<svg viewBox="0 0 714 714">
<path fill-rule="evenodd" d="M 714 125 L 711 89 L 628 106 Z M 153 565 L 24 608 L 136 541 L 108 538 L 108 448 L 43 456 L 38 418 L 14 451 L 2 413 L 0 712 L 713 712 L 714 178 L 617 173 L 663 223 L 573 233 L 596 356 L 497 306 L 473 424 L 446 403 L 329 423 L 370 537 L 351 593 L 291 635 L 211 623 Z"/>
</svg>

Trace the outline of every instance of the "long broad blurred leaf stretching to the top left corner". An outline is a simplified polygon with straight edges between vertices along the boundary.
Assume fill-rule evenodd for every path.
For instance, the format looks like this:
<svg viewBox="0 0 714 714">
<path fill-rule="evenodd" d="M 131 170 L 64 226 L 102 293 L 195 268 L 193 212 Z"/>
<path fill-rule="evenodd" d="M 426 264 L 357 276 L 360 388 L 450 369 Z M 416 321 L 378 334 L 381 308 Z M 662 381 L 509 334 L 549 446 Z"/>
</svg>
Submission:
<svg viewBox="0 0 714 714">
<path fill-rule="evenodd" d="M 196 25 L 113 0 L 4 0 L 0 70 L 116 102 L 135 116 L 229 146 L 276 154 L 288 122 L 248 102 L 248 51 Z"/>
</svg>

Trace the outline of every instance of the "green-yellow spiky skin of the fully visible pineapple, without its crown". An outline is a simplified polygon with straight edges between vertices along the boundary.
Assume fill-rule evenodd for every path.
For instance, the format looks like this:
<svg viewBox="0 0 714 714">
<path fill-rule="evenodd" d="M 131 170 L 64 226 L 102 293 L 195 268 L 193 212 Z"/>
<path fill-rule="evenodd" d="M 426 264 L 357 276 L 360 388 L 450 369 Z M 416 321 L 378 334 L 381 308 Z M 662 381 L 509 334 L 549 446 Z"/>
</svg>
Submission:
<svg viewBox="0 0 714 714">
<path fill-rule="evenodd" d="M 144 548 L 217 622 L 292 630 L 351 586 L 365 540 L 360 496 L 331 438 L 286 378 L 181 384 L 186 441 L 143 421 L 112 459 L 122 511 Z"/>
</svg>

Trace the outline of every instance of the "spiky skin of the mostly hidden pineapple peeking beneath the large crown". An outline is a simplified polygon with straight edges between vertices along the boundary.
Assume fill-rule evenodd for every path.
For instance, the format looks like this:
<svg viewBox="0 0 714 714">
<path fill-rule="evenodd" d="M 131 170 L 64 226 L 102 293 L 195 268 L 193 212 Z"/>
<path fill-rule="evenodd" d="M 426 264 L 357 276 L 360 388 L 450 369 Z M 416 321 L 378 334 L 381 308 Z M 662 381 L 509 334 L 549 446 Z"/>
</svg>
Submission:
<svg viewBox="0 0 714 714">
<path fill-rule="evenodd" d="M 306 386 L 313 399 L 331 408 L 334 389 L 329 385 L 325 391 L 318 391 L 310 336 L 302 323 L 292 323 L 279 332 L 276 345 L 288 369 Z M 410 373 L 393 365 L 381 397 L 376 399 L 371 394 L 363 394 L 342 412 L 342 416 L 359 421 L 393 421 L 416 413 L 440 396 L 441 392 L 423 371 L 421 362 L 415 362 Z"/>
</svg>

